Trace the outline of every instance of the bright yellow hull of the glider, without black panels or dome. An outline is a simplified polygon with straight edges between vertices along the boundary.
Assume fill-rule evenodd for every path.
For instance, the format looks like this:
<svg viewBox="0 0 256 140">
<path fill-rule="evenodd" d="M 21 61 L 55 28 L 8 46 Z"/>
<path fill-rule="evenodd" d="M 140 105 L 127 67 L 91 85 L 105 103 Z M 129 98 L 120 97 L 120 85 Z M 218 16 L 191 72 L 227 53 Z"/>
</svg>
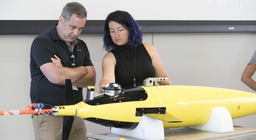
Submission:
<svg viewBox="0 0 256 140">
<path fill-rule="evenodd" d="M 164 128 L 203 125 L 211 114 L 211 108 L 226 107 L 231 117 L 239 118 L 256 113 L 256 94 L 244 91 L 210 88 L 203 86 L 141 86 L 147 94 L 146 100 L 104 103 L 94 100 L 79 102 L 73 106 L 59 106 L 58 116 L 77 116 L 83 119 L 95 118 L 139 123 L 138 108 L 165 108 L 164 114 L 145 113 L 162 120 Z M 115 98 L 115 97 L 113 97 Z"/>
</svg>

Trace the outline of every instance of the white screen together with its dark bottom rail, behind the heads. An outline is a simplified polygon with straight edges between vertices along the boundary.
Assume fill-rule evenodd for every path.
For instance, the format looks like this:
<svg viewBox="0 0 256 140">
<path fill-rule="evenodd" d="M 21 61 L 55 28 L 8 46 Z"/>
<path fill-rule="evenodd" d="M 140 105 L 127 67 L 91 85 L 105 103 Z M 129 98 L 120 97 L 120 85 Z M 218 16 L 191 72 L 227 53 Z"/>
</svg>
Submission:
<svg viewBox="0 0 256 140">
<path fill-rule="evenodd" d="M 0 0 L 0 34 L 38 34 L 57 23 L 70 0 Z M 82 33 L 102 33 L 107 15 L 127 11 L 142 32 L 256 32 L 256 0 L 77 0 Z"/>
</svg>

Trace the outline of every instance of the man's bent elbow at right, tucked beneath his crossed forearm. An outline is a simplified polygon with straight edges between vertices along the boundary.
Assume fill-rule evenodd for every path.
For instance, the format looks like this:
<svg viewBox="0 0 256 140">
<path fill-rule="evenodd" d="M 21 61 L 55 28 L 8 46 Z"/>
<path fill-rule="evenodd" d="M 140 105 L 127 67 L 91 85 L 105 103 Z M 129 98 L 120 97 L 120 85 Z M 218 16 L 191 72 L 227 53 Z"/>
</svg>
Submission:
<svg viewBox="0 0 256 140">
<path fill-rule="evenodd" d="M 85 66 L 86 74 L 72 83 L 72 85 L 79 88 L 86 88 L 87 86 L 94 86 L 96 83 L 96 72 L 93 66 Z"/>
</svg>

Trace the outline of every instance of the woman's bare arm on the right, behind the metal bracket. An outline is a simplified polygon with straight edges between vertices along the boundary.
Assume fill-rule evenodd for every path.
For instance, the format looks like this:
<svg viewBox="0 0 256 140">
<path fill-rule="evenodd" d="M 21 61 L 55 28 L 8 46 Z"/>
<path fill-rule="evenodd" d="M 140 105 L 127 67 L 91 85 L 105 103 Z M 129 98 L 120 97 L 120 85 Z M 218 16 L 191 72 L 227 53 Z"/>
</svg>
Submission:
<svg viewBox="0 0 256 140">
<path fill-rule="evenodd" d="M 164 82 L 158 82 L 159 85 L 171 85 L 171 79 L 170 77 L 166 74 L 164 70 L 164 66 L 161 62 L 160 56 L 158 55 L 158 52 L 156 51 L 155 47 L 149 43 L 143 43 L 145 48 L 148 51 L 148 54 L 151 57 L 152 60 L 152 65 L 155 67 L 156 70 L 156 77 L 167 77 L 169 78 L 169 81 L 164 81 Z"/>
</svg>

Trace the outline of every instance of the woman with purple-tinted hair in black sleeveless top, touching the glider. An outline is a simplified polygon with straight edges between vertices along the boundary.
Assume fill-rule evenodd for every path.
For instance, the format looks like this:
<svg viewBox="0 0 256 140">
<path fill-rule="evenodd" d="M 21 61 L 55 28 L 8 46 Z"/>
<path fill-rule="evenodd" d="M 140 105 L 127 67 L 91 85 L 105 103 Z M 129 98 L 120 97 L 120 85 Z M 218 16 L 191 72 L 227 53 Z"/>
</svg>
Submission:
<svg viewBox="0 0 256 140">
<path fill-rule="evenodd" d="M 107 83 L 119 83 L 128 89 L 143 85 L 148 77 L 168 77 L 156 49 L 142 43 L 142 37 L 140 26 L 129 13 L 115 11 L 107 16 L 103 48 L 108 52 L 102 60 L 99 93 L 104 92 Z M 159 82 L 170 84 L 170 80 Z"/>
</svg>

